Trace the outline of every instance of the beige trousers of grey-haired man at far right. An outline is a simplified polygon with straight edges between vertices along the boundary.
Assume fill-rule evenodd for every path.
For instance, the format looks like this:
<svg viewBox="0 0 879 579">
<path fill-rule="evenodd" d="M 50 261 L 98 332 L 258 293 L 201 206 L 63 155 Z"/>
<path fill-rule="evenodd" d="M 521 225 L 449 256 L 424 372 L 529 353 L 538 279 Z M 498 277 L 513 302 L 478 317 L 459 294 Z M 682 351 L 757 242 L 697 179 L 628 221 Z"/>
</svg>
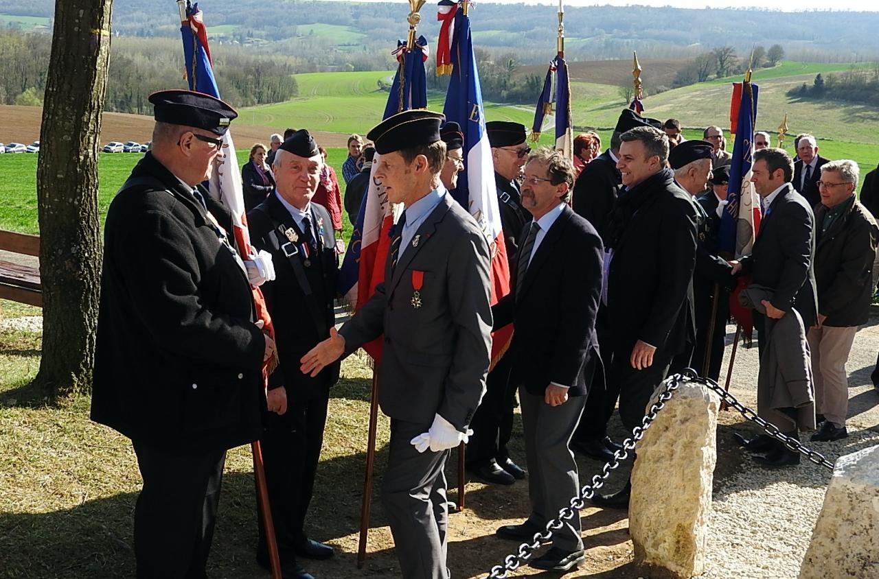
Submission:
<svg viewBox="0 0 879 579">
<path fill-rule="evenodd" d="M 812 354 L 815 380 L 815 412 L 841 428 L 848 414 L 848 374 L 846 362 L 852 351 L 857 326 L 810 328 L 806 339 Z"/>
</svg>

